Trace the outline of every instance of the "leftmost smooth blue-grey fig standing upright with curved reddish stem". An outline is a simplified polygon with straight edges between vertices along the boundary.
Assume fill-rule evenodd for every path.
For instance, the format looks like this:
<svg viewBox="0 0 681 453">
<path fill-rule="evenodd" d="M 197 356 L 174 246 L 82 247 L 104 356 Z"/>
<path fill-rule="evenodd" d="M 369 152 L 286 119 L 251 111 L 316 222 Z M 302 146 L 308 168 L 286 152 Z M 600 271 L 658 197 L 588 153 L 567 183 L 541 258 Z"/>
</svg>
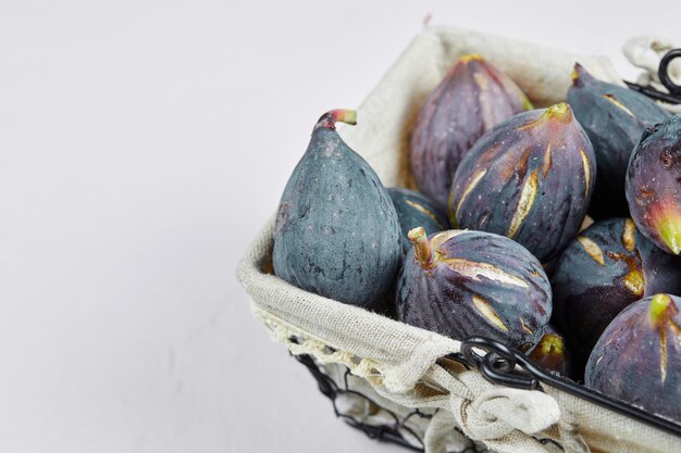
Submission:
<svg viewBox="0 0 681 453">
<path fill-rule="evenodd" d="M 371 307 L 391 289 L 401 261 L 401 232 L 387 190 L 336 133 L 356 114 L 319 119 L 280 202 L 274 273 L 340 302 Z"/>
</svg>

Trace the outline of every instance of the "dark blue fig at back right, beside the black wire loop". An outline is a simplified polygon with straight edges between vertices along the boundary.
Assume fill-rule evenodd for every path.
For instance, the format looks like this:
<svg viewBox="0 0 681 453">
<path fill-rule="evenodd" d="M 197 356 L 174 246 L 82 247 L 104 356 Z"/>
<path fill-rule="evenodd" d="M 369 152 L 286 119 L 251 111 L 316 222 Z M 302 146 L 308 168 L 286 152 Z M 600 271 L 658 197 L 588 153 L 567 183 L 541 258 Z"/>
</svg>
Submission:
<svg viewBox="0 0 681 453">
<path fill-rule="evenodd" d="M 645 128 L 664 122 L 669 113 L 644 95 L 593 78 L 579 64 L 568 103 L 591 139 L 598 163 L 590 213 L 596 218 L 629 215 L 624 197 L 629 158 Z"/>
</svg>

